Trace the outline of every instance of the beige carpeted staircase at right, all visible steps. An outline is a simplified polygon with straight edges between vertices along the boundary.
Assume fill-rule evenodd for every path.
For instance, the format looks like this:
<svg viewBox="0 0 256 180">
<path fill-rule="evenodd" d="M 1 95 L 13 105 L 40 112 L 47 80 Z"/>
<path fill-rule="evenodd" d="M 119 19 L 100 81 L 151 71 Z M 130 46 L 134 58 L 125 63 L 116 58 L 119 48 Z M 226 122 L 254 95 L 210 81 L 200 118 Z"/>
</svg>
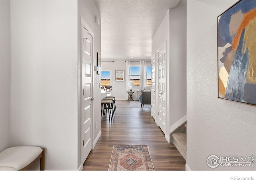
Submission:
<svg viewBox="0 0 256 180">
<path fill-rule="evenodd" d="M 171 132 L 170 143 L 174 144 L 183 158 L 186 160 L 187 155 L 187 122 L 181 124 Z"/>
</svg>

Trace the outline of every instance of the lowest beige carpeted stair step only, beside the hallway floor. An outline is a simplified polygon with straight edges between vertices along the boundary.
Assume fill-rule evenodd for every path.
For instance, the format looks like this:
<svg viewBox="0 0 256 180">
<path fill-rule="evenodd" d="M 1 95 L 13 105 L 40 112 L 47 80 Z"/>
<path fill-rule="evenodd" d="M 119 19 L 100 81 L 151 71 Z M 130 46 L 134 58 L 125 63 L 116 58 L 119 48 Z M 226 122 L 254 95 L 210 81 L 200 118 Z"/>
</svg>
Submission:
<svg viewBox="0 0 256 180">
<path fill-rule="evenodd" d="M 185 133 L 174 133 L 172 134 L 174 139 L 173 144 L 176 146 L 180 154 L 186 160 L 187 155 L 187 134 Z"/>
</svg>

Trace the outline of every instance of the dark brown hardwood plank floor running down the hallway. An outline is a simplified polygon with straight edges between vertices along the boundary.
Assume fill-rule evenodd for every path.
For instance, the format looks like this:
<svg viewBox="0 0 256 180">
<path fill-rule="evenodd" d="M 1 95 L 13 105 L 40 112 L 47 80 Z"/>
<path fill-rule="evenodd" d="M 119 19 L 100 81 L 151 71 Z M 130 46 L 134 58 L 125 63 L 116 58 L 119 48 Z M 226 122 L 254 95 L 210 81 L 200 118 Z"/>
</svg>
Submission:
<svg viewBox="0 0 256 180">
<path fill-rule="evenodd" d="M 111 123 L 101 120 L 102 135 L 84 162 L 83 170 L 107 171 L 114 145 L 147 144 L 156 171 L 185 170 L 186 161 L 150 116 L 150 108 L 130 108 L 126 100 L 116 101 L 116 114 Z"/>
</svg>

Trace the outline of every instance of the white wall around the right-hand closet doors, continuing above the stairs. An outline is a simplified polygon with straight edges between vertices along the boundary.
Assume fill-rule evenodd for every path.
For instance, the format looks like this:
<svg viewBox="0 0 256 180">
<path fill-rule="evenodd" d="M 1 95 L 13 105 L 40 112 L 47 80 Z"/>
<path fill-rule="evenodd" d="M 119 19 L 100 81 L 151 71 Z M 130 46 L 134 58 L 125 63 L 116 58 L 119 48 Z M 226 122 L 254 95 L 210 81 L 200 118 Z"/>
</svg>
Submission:
<svg viewBox="0 0 256 180">
<path fill-rule="evenodd" d="M 180 1 L 175 9 L 166 14 L 152 39 L 152 55 L 165 42 L 168 68 L 166 139 L 169 141 L 172 126 L 186 120 L 186 1 Z"/>
</svg>

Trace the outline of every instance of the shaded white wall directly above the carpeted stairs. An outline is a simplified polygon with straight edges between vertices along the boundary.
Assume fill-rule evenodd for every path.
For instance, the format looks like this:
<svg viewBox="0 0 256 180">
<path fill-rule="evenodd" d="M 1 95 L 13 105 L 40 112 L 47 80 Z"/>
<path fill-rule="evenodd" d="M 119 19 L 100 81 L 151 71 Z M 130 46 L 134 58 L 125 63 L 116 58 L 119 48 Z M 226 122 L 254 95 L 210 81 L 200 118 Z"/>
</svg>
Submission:
<svg viewBox="0 0 256 180">
<path fill-rule="evenodd" d="M 182 0 L 170 10 L 170 70 L 169 110 L 171 128 L 176 122 L 186 120 L 186 1 Z"/>
</svg>

